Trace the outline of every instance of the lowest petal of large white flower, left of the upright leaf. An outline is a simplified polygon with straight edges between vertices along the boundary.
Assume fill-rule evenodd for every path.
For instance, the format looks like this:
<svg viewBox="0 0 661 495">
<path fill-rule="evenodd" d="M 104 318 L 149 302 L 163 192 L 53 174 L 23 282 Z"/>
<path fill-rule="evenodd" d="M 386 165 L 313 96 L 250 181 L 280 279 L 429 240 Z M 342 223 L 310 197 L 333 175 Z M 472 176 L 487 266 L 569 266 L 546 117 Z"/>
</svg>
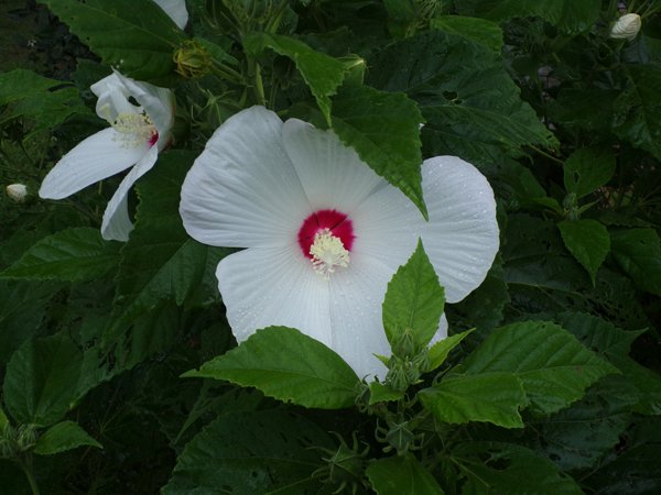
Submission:
<svg viewBox="0 0 661 495">
<path fill-rule="evenodd" d="M 371 256 L 353 253 L 349 266 L 337 270 L 329 279 L 330 346 L 360 377 L 386 377 L 386 366 L 373 354 L 391 354 L 381 305 L 393 273 Z"/>
</svg>

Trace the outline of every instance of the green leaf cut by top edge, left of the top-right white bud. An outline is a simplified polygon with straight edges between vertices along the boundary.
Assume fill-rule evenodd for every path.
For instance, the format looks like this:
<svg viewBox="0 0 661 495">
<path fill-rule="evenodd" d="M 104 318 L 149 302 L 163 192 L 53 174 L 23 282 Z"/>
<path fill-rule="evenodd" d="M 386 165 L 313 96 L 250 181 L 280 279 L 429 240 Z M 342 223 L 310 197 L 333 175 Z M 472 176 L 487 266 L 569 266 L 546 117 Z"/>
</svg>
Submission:
<svg viewBox="0 0 661 495">
<path fill-rule="evenodd" d="M 463 0 L 457 10 L 464 15 L 475 15 L 502 22 L 514 18 L 540 16 L 563 31 L 578 33 L 597 22 L 599 0 Z"/>
</svg>

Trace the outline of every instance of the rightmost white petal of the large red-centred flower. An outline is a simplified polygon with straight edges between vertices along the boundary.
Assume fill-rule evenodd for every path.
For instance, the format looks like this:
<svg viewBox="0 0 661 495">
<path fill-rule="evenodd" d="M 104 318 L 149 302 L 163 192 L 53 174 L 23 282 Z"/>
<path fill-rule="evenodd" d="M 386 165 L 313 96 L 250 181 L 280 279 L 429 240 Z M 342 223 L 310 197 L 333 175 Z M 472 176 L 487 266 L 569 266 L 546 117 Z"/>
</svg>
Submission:
<svg viewBox="0 0 661 495">
<path fill-rule="evenodd" d="M 447 302 L 457 302 L 483 283 L 498 252 L 494 191 L 477 168 L 456 156 L 426 160 L 422 188 L 430 215 L 422 242 Z"/>
</svg>

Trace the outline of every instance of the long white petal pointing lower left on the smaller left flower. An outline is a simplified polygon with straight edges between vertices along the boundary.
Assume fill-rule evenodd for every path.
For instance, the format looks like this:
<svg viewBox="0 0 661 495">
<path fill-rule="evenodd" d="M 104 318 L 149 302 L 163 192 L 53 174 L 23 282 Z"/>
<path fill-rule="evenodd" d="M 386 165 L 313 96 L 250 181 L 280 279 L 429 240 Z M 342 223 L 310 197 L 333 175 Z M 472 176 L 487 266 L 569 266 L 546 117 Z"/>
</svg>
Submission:
<svg viewBox="0 0 661 495">
<path fill-rule="evenodd" d="M 148 145 L 127 147 L 113 129 L 104 129 L 79 143 L 48 172 L 39 190 L 42 198 L 62 199 L 118 174 L 137 163 Z"/>
</svg>

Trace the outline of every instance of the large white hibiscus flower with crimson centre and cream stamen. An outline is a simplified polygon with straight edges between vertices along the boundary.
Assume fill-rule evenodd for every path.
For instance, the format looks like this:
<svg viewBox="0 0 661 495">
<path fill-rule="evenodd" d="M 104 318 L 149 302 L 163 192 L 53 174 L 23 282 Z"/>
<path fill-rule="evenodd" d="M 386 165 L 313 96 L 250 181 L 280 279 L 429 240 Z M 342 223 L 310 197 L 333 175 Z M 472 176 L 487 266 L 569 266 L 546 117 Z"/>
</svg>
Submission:
<svg viewBox="0 0 661 495">
<path fill-rule="evenodd" d="M 237 340 L 294 327 L 359 375 L 383 377 L 381 302 L 419 237 L 449 302 L 484 280 L 498 251 L 486 178 L 455 156 L 426 160 L 422 175 L 429 222 L 332 132 L 262 107 L 228 119 L 186 176 L 180 212 L 194 239 L 248 248 L 216 272 Z"/>
</svg>

